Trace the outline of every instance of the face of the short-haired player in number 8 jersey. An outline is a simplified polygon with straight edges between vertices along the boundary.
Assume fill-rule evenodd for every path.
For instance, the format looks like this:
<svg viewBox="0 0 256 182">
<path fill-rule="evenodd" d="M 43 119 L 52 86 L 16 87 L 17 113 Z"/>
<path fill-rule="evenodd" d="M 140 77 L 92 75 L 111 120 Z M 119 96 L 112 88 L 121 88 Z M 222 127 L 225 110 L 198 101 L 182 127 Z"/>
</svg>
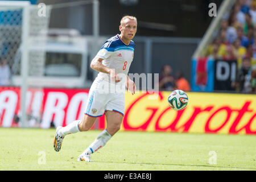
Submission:
<svg viewBox="0 0 256 182">
<path fill-rule="evenodd" d="M 137 32 L 137 21 L 134 19 L 126 18 L 123 22 L 123 26 L 119 27 L 123 38 L 131 40 L 134 38 Z"/>
</svg>

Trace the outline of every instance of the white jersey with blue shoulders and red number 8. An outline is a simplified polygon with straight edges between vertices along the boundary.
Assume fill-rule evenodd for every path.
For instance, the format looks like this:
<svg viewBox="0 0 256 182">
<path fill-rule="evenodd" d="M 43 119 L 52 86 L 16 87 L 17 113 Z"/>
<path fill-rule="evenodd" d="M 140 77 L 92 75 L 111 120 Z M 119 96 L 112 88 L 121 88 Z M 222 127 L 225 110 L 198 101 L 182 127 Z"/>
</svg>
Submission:
<svg viewBox="0 0 256 182">
<path fill-rule="evenodd" d="M 93 82 L 93 88 L 98 89 L 101 85 L 105 84 L 114 86 L 115 89 L 125 89 L 126 76 L 129 72 L 131 62 L 133 61 L 135 44 L 133 40 L 130 41 L 129 45 L 123 43 L 119 38 L 119 35 L 115 35 L 108 39 L 97 53 L 96 57 L 104 59 L 102 64 L 108 68 L 112 68 L 121 78 L 120 82 L 111 82 L 110 75 L 107 73 L 98 73 L 98 76 Z M 106 89 L 106 88 L 105 88 Z"/>
</svg>

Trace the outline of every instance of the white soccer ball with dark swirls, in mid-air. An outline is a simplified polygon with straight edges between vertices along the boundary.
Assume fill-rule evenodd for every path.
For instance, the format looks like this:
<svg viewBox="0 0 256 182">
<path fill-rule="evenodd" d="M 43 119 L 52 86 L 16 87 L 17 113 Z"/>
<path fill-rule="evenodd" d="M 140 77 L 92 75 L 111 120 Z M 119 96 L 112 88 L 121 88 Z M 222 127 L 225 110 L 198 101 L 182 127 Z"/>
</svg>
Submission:
<svg viewBox="0 0 256 182">
<path fill-rule="evenodd" d="M 188 96 L 183 90 L 174 90 L 168 97 L 168 104 L 174 110 L 182 110 L 188 104 Z"/>
</svg>

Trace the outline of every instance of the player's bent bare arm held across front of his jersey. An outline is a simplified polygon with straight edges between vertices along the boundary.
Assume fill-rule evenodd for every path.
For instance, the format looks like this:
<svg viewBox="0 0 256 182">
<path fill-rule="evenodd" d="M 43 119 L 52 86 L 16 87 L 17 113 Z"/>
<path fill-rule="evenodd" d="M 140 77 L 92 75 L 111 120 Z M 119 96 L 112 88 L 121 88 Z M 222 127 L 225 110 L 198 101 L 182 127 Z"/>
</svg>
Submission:
<svg viewBox="0 0 256 182">
<path fill-rule="evenodd" d="M 102 72 L 102 73 L 108 73 L 110 75 L 110 78 L 115 81 L 119 82 L 121 81 L 120 77 L 117 75 L 117 73 L 114 71 L 114 69 L 110 69 L 102 64 L 103 59 L 100 57 L 94 57 L 92 62 L 90 63 L 90 68 Z"/>
</svg>

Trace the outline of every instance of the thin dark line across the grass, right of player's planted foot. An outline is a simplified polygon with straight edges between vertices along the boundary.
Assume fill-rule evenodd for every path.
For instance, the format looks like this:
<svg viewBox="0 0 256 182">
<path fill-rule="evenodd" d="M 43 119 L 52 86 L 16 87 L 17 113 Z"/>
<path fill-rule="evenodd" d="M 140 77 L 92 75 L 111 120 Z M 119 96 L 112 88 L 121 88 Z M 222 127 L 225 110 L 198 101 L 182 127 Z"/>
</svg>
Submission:
<svg viewBox="0 0 256 182">
<path fill-rule="evenodd" d="M 192 164 L 155 164 L 155 163 L 133 163 L 133 162 L 104 162 L 96 161 L 98 163 L 123 163 L 123 164 L 145 164 L 145 165 L 164 165 L 164 166 L 189 166 L 189 167 L 214 167 L 214 168 L 234 168 L 234 169 L 251 169 L 255 170 L 256 168 L 244 168 L 244 167 L 222 167 L 222 166 L 212 166 L 212 165 L 192 165 Z"/>
</svg>

